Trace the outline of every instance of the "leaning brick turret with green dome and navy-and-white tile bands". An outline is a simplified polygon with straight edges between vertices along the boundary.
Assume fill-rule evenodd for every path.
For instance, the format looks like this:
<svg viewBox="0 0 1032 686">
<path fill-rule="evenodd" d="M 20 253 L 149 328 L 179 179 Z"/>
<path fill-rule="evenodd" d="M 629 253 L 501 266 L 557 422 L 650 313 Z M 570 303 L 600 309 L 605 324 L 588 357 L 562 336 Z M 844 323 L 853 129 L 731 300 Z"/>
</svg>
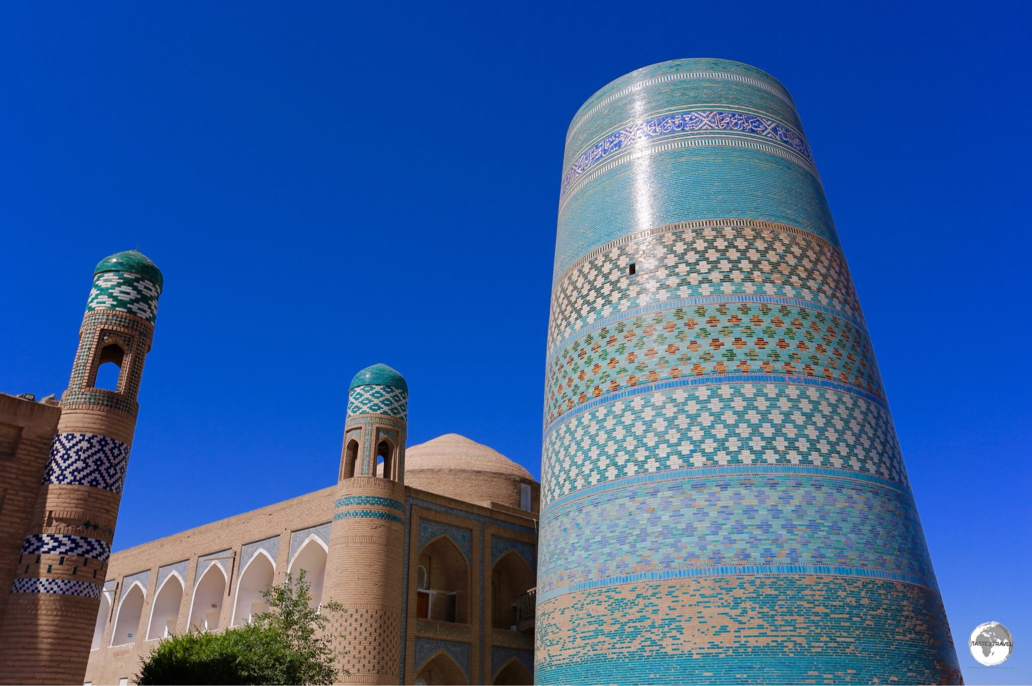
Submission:
<svg viewBox="0 0 1032 686">
<path fill-rule="evenodd" d="M 83 683 L 136 424 L 136 393 L 161 294 L 136 251 L 102 260 L 61 419 L 0 623 L 0 683 Z M 105 362 L 115 390 L 95 388 Z"/>
</svg>

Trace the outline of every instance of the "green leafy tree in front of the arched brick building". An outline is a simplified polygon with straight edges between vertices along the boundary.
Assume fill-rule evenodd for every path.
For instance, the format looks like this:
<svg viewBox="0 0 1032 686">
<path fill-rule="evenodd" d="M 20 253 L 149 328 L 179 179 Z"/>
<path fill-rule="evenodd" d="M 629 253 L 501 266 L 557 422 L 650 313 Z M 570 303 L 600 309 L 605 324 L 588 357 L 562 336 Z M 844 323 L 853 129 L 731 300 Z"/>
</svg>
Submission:
<svg viewBox="0 0 1032 686">
<path fill-rule="evenodd" d="M 221 632 L 191 630 L 162 639 L 140 658 L 137 684 L 332 684 L 338 671 L 326 625 L 343 610 L 312 608 L 302 569 L 263 592 L 268 612 Z M 347 672 L 345 672 L 347 675 Z"/>
</svg>

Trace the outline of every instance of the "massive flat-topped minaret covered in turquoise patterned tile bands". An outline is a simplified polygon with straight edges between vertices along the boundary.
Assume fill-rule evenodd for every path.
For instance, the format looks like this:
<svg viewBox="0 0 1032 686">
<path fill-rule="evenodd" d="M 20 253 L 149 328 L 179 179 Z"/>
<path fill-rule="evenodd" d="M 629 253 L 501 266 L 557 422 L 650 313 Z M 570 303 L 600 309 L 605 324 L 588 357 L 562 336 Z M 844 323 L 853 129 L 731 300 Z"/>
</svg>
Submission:
<svg viewBox="0 0 1032 686">
<path fill-rule="evenodd" d="M 677 60 L 567 135 L 540 683 L 958 682 L 864 317 L 792 96 Z"/>
</svg>

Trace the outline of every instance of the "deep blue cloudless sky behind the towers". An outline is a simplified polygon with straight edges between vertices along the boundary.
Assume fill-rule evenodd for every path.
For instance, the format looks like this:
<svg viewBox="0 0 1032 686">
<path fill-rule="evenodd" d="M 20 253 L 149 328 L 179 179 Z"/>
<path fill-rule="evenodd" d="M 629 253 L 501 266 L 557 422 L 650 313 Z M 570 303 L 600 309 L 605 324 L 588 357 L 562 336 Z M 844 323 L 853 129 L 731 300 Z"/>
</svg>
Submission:
<svg viewBox="0 0 1032 686">
<path fill-rule="evenodd" d="M 1030 17 L 839 4 L 8 3 L 0 390 L 61 393 L 93 265 L 138 243 L 166 291 L 117 549 L 330 485 L 373 362 L 410 445 L 538 475 L 570 118 L 747 62 L 798 103 L 965 677 L 1029 683 Z M 1006 669 L 972 668 L 988 620 Z"/>
</svg>

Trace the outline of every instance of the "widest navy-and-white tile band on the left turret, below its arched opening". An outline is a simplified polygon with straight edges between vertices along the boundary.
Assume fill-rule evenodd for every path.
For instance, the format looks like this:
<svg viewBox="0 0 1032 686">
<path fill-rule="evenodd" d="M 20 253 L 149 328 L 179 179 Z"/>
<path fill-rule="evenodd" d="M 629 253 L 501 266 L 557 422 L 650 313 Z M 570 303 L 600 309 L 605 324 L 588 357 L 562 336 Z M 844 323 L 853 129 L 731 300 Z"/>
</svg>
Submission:
<svg viewBox="0 0 1032 686">
<path fill-rule="evenodd" d="M 121 493 L 129 466 L 129 446 L 96 433 L 57 433 L 43 484 L 92 486 Z"/>
</svg>

